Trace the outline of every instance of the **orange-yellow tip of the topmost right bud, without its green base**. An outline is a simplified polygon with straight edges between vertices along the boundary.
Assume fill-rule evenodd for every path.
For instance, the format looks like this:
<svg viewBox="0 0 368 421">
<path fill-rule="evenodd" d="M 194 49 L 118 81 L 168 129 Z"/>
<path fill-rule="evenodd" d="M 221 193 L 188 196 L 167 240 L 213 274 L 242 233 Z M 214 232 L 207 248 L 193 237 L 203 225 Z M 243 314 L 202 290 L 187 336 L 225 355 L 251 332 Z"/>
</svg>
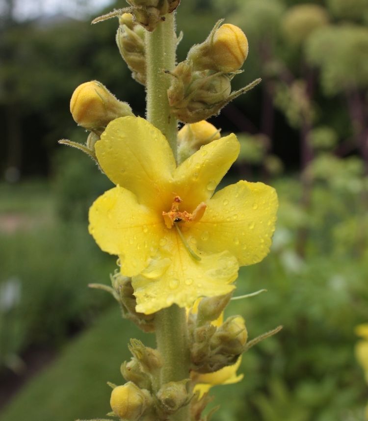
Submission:
<svg viewBox="0 0 368 421">
<path fill-rule="evenodd" d="M 213 35 L 211 55 L 220 72 L 230 73 L 240 69 L 248 55 L 248 40 L 235 25 L 220 26 Z"/>
</svg>

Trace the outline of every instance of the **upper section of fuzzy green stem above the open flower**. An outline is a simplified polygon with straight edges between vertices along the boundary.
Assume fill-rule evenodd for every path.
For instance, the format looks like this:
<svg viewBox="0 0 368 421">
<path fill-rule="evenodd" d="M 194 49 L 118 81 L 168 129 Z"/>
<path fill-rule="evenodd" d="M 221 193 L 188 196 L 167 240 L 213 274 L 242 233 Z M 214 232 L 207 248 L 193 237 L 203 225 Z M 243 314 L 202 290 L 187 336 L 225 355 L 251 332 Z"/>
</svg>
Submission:
<svg viewBox="0 0 368 421">
<path fill-rule="evenodd" d="M 165 16 L 153 32 L 146 32 L 147 120 L 168 140 L 177 159 L 177 120 L 170 113 L 165 70 L 174 70 L 176 59 L 175 13 Z"/>
</svg>

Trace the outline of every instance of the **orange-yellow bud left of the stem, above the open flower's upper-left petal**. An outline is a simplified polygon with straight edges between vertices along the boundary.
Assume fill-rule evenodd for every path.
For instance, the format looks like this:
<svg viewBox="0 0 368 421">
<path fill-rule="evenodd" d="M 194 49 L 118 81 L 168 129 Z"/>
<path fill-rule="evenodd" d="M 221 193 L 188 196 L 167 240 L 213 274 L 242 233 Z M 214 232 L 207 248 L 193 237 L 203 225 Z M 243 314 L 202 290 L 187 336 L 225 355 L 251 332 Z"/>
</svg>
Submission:
<svg viewBox="0 0 368 421">
<path fill-rule="evenodd" d="M 129 104 L 117 100 L 97 80 L 82 83 L 76 88 L 70 100 L 70 112 L 79 126 L 98 135 L 111 120 L 133 115 Z"/>
</svg>

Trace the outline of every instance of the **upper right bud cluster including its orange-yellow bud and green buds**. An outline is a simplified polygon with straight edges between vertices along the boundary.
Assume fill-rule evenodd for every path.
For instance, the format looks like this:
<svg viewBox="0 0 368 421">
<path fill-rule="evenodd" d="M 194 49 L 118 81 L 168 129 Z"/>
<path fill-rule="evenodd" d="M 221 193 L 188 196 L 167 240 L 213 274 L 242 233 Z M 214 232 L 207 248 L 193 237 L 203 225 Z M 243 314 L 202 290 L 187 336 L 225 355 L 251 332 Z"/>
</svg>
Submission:
<svg viewBox="0 0 368 421">
<path fill-rule="evenodd" d="M 194 45 L 173 72 L 167 95 L 171 112 L 185 123 L 206 120 L 245 92 L 231 92 L 231 79 L 248 55 L 248 41 L 234 25 L 217 22 L 208 38 Z"/>
</svg>

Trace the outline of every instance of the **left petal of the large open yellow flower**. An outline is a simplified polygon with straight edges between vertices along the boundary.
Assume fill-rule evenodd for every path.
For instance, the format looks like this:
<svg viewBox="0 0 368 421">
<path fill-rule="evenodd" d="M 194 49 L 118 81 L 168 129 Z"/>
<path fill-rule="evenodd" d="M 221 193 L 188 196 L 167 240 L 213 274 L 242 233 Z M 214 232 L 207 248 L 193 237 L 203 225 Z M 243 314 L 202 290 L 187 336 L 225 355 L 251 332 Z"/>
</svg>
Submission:
<svg viewBox="0 0 368 421">
<path fill-rule="evenodd" d="M 107 190 L 89 210 L 89 232 L 107 253 L 120 256 L 121 272 L 139 273 L 164 236 L 162 217 L 140 205 L 129 190 Z"/>
</svg>

